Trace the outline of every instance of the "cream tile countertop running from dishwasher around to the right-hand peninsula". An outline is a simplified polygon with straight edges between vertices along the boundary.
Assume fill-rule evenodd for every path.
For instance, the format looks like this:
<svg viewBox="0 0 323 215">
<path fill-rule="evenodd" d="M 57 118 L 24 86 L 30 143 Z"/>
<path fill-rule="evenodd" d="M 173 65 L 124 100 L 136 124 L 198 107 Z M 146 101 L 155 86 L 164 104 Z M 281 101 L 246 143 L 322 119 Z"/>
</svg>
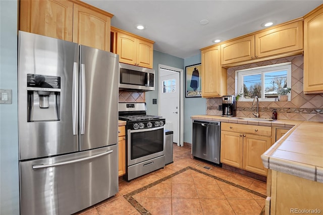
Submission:
<svg viewBox="0 0 323 215">
<path fill-rule="evenodd" d="M 289 128 L 282 138 L 261 155 L 263 166 L 323 183 L 323 122 L 255 122 L 210 115 L 195 115 L 191 119 Z"/>
</svg>

